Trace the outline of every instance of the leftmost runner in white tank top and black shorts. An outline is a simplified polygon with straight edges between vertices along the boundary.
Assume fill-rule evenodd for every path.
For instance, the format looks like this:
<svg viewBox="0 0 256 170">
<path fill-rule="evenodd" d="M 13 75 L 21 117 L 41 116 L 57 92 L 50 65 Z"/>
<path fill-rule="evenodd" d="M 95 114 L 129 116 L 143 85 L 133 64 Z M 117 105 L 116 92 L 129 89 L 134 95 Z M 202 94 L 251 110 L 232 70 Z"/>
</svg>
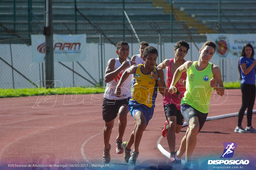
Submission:
<svg viewBox="0 0 256 170">
<path fill-rule="evenodd" d="M 102 103 L 102 118 L 105 122 L 103 128 L 103 141 L 104 141 L 104 151 L 103 151 L 103 162 L 109 163 L 111 144 L 110 136 L 112 128 L 114 126 L 115 118 L 118 117 L 118 136 L 116 137 L 116 153 L 122 154 L 124 149 L 122 147 L 122 139 L 125 132 L 125 127 L 127 124 L 127 113 L 129 98 L 131 96 L 131 78 L 130 81 L 124 82 L 122 88 L 122 97 L 116 98 L 114 95 L 116 85 L 118 84 L 123 72 L 135 64 L 133 61 L 127 60 L 129 56 L 130 47 L 125 41 L 120 41 L 116 44 L 116 54 L 118 58 L 111 58 L 108 61 L 104 80 L 107 83 L 104 93 L 104 99 Z"/>
</svg>

